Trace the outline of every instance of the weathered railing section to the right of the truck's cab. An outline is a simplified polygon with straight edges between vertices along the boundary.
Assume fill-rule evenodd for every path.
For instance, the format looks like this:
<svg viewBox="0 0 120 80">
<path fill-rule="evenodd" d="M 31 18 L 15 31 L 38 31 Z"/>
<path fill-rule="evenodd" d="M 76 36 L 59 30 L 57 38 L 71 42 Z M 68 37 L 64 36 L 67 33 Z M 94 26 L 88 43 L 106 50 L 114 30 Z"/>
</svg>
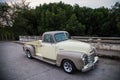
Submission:
<svg viewBox="0 0 120 80">
<path fill-rule="evenodd" d="M 120 51 L 120 37 L 81 37 L 72 36 L 72 39 L 88 42 L 98 49 Z"/>
</svg>

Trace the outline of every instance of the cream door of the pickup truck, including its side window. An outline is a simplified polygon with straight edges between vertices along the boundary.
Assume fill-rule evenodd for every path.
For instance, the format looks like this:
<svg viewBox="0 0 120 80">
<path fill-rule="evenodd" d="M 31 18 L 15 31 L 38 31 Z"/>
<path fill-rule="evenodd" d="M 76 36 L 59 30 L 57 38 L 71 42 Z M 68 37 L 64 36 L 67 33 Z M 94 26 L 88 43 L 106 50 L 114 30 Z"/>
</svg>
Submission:
<svg viewBox="0 0 120 80">
<path fill-rule="evenodd" d="M 56 60 L 56 47 L 52 39 L 52 35 L 44 35 L 43 42 L 41 43 L 41 46 L 39 48 L 39 54 L 42 55 L 43 58 Z"/>
</svg>

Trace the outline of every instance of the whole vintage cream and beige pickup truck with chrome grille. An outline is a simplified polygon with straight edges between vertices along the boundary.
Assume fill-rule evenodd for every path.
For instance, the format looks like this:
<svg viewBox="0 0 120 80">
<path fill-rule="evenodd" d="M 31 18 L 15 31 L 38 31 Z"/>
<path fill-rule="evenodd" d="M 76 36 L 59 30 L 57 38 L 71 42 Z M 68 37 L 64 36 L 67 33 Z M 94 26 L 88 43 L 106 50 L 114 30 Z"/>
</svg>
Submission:
<svg viewBox="0 0 120 80">
<path fill-rule="evenodd" d="M 28 58 L 61 66 L 66 73 L 89 71 L 98 61 L 93 46 L 70 39 L 67 31 L 45 32 L 42 40 L 26 42 L 23 50 Z"/>
</svg>

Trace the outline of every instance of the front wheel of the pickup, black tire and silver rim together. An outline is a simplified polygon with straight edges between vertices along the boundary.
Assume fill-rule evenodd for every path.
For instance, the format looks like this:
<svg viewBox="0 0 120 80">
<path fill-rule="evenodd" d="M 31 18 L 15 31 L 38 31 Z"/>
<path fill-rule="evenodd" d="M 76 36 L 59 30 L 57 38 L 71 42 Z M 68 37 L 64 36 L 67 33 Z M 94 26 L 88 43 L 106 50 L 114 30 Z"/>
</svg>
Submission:
<svg viewBox="0 0 120 80">
<path fill-rule="evenodd" d="M 70 60 L 64 60 L 62 63 L 62 67 L 63 67 L 63 70 L 69 74 L 72 74 L 76 71 L 74 63 Z"/>
</svg>

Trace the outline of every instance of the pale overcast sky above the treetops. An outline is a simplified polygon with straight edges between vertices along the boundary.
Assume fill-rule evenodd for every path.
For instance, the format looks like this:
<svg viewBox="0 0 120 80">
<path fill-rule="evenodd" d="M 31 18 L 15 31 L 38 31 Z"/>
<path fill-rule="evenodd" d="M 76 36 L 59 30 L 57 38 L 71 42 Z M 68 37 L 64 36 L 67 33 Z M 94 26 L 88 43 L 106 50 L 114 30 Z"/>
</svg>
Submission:
<svg viewBox="0 0 120 80">
<path fill-rule="evenodd" d="M 0 2 L 15 2 L 20 0 L 0 0 Z M 90 8 L 99 8 L 106 7 L 111 8 L 116 2 L 120 2 L 120 0 L 26 0 L 26 2 L 30 2 L 31 7 L 39 6 L 39 4 L 44 3 L 54 3 L 54 2 L 64 2 L 66 4 L 75 5 L 78 4 L 80 7 L 86 6 Z"/>
</svg>

